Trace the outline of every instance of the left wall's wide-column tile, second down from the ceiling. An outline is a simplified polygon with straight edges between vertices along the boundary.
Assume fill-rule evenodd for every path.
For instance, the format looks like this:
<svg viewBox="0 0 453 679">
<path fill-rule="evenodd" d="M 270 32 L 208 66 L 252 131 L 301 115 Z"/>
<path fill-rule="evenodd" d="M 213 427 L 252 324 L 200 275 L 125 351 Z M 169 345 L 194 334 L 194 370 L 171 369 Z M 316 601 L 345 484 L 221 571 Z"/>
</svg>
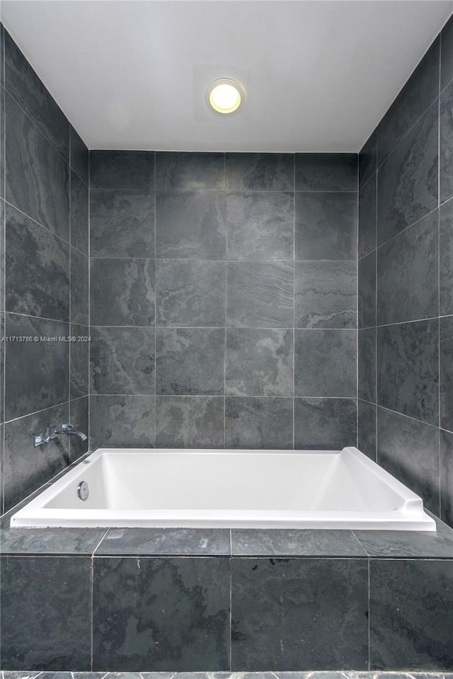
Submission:
<svg viewBox="0 0 453 679">
<path fill-rule="evenodd" d="M 6 200 L 69 241 L 69 166 L 8 95 L 5 146 Z"/>
</svg>

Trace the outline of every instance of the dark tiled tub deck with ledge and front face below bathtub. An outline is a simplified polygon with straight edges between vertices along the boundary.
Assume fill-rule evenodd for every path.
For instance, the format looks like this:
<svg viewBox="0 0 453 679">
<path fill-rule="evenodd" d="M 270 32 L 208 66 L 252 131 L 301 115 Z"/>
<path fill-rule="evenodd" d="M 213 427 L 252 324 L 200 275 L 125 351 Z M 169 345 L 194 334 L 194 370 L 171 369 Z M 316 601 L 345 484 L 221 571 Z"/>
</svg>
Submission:
<svg viewBox="0 0 453 679">
<path fill-rule="evenodd" d="M 4 671 L 447 671 L 453 530 L 1 531 Z"/>
</svg>

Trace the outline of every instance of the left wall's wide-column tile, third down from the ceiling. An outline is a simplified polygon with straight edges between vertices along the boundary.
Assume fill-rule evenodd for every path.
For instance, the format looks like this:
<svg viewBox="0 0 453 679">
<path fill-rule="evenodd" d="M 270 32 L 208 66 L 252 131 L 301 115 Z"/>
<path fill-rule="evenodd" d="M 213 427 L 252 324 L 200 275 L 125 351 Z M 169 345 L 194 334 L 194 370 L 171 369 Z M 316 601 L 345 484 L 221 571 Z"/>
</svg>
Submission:
<svg viewBox="0 0 453 679">
<path fill-rule="evenodd" d="M 69 245 L 6 206 L 6 309 L 69 321 Z"/>
</svg>

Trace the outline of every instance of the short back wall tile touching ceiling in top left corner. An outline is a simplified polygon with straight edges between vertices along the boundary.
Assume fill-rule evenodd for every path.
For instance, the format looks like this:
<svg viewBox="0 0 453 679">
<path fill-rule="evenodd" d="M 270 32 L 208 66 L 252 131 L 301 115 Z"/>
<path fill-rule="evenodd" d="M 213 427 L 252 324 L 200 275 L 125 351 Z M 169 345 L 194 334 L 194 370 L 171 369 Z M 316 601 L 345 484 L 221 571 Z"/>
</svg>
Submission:
<svg viewBox="0 0 453 679">
<path fill-rule="evenodd" d="M 149 191 L 154 186 L 154 151 L 90 151 L 90 188 Z"/>
</svg>

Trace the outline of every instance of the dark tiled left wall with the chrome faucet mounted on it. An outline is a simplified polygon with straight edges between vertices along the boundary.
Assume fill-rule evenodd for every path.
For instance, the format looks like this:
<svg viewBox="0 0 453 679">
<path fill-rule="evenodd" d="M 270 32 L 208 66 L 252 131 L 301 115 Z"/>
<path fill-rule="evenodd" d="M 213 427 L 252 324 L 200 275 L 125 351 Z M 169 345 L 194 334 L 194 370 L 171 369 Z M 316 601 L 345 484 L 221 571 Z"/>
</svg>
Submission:
<svg viewBox="0 0 453 679">
<path fill-rule="evenodd" d="M 88 431 L 88 149 L 0 29 L 0 513 L 86 452 L 31 436 Z M 34 338 L 37 337 L 38 341 Z M 18 338 L 32 338 L 19 341 Z"/>
</svg>

